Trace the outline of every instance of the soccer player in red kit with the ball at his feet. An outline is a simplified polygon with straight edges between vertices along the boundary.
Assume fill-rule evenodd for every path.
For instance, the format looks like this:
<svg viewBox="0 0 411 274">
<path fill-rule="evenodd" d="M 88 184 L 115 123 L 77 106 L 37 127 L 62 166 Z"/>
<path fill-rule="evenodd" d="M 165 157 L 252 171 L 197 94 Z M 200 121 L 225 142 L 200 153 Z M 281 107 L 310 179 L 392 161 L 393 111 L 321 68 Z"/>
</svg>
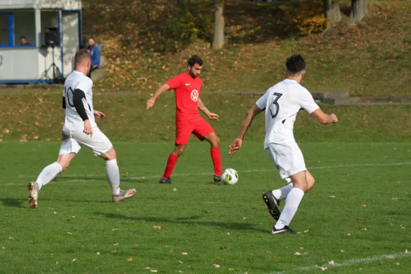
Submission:
<svg viewBox="0 0 411 274">
<path fill-rule="evenodd" d="M 194 134 L 199 140 L 207 140 L 211 145 L 211 158 L 214 164 L 214 182 L 221 182 L 221 153 L 220 139 L 211 125 L 201 117 L 199 109 L 210 120 L 217 120 L 219 116 L 210 112 L 200 99 L 201 80 L 200 73 L 203 69 L 203 60 L 193 55 L 188 60 L 188 71 L 173 77 L 162 85 L 147 101 L 147 110 L 152 108 L 155 100 L 167 90 L 175 90 L 175 148 L 169 155 L 166 170 L 160 179 L 160 184 L 171 184 L 171 173 L 178 158 L 184 152 L 190 134 Z"/>
</svg>

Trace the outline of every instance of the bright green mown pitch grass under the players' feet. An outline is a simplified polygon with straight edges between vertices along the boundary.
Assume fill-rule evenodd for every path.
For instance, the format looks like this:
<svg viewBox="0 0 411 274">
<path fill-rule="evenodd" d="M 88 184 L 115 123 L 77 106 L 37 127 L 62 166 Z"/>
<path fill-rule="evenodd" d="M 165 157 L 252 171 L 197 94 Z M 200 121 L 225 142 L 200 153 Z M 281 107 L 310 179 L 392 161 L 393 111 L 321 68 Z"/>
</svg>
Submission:
<svg viewBox="0 0 411 274">
<path fill-rule="evenodd" d="M 269 233 L 273 219 L 261 194 L 283 183 L 261 142 L 246 143 L 232 160 L 223 149 L 223 166 L 240 175 L 235 186 L 197 174 L 212 173 L 206 144 L 190 143 L 173 185 L 163 186 L 158 176 L 171 142 L 115 142 L 122 186 L 138 190 L 123 203 L 110 203 L 103 161 L 84 149 L 31 210 L 27 181 L 55 160 L 59 146 L 0 144 L 1 273 L 317 273 L 301 268 L 331 260 L 349 265 L 327 266 L 330 273 L 411 267 L 410 256 L 349 263 L 411 250 L 408 143 L 302 143 L 316 186 L 292 221 L 303 232 L 295 236 Z"/>
</svg>

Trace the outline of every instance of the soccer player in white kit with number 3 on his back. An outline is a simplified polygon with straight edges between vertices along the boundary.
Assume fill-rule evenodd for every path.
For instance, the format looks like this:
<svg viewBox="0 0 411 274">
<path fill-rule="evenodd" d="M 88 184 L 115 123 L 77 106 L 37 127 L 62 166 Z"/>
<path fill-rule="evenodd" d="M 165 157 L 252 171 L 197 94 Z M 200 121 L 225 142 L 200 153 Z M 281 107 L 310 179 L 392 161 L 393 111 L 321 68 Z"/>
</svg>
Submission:
<svg viewBox="0 0 411 274">
<path fill-rule="evenodd" d="M 304 109 L 324 125 L 338 123 L 335 114 L 325 114 L 315 103 L 310 92 L 299 83 L 306 75 L 306 62 L 301 55 L 291 55 L 286 60 L 287 79 L 269 88 L 247 112 L 240 132 L 232 145 L 229 155 L 232 157 L 242 145 L 247 129 L 254 117 L 265 110 L 266 136 L 264 150 L 279 170 L 287 185 L 265 192 L 262 197 L 269 212 L 277 221 L 272 234 L 295 233 L 289 225 L 297 212 L 304 193 L 314 186 L 314 177 L 306 169 L 303 153 L 295 142 L 292 132 L 299 110 Z M 286 199 L 283 212 L 279 210 L 279 201 Z"/>
</svg>

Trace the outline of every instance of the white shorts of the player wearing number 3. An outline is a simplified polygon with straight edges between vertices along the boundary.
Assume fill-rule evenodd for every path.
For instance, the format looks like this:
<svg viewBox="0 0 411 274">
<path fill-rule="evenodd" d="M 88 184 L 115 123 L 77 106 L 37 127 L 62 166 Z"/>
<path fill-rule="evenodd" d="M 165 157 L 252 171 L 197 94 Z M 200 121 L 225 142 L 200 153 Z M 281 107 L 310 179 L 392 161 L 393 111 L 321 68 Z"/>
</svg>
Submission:
<svg viewBox="0 0 411 274">
<path fill-rule="evenodd" d="M 297 144 L 270 144 L 265 151 L 277 166 L 281 179 L 286 179 L 287 182 L 290 181 L 289 177 L 291 175 L 307 170 L 303 153 Z"/>
</svg>

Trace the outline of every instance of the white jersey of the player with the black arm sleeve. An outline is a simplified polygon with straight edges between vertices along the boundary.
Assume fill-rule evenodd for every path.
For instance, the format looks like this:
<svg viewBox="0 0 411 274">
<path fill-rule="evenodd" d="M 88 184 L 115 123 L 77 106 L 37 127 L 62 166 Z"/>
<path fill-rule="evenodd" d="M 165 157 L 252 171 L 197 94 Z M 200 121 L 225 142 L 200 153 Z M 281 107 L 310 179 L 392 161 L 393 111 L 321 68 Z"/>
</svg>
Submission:
<svg viewBox="0 0 411 274">
<path fill-rule="evenodd" d="M 83 104 L 91 127 L 97 127 L 92 106 L 92 79 L 88 78 L 83 73 L 73 71 L 66 78 L 66 82 L 64 82 L 63 97 L 66 101 L 66 120 L 64 121 L 64 128 L 69 129 L 70 131 L 84 129 L 84 121 L 75 110 L 73 103 L 73 92 L 77 88 L 83 90 L 86 95 L 86 99 L 83 99 Z"/>
</svg>

